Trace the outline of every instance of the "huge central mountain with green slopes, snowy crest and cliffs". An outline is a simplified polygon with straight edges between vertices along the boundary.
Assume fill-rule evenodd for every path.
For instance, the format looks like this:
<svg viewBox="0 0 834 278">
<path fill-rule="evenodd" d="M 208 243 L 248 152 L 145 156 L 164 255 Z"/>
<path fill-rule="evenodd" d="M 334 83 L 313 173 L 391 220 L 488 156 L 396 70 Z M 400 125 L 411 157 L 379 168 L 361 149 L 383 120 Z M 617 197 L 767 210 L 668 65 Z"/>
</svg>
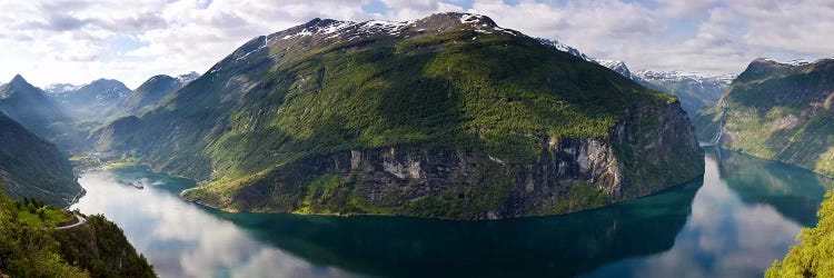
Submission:
<svg viewBox="0 0 834 278">
<path fill-rule="evenodd" d="M 183 196 L 226 210 L 552 215 L 703 173 L 677 99 L 477 14 L 316 19 L 118 125 L 99 150 L 207 181 Z"/>
</svg>

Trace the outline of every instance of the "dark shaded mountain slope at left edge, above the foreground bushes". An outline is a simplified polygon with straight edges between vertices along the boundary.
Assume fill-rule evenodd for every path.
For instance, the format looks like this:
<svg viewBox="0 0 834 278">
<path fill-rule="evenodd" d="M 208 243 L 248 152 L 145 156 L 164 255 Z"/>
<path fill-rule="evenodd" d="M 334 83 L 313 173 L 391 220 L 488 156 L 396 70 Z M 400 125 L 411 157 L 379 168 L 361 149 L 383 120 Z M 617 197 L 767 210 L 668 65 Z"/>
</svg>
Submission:
<svg viewBox="0 0 834 278">
<path fill-rule="evenodd" d="M 83 192 L 58 148 L 0 112 L 0 188 L 64 207 Z"/>
</svg>

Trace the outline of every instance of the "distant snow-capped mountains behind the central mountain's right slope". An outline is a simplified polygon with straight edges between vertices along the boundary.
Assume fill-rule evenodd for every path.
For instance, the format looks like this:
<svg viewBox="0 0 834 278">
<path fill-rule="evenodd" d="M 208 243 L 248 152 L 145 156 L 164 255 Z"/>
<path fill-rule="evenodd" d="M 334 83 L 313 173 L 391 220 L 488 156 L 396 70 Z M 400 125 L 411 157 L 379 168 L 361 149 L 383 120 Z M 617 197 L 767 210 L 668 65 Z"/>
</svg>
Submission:
<svg viewBox="0 0 834 278">
<path fill-rule="evenodd" d="M 576 48 L 560 43 L 555 40 L 538 39 L 542 43 L 556 48 L 559 51 L 582 58 L 583 60 L 598 63 L 615 72 L 627 77 L 647 88 L 668 92 L 681 98 L 681 107 L 686 110 L 691 118 L 703 108 L 711 107 L 718 100 L 736 75 L 703 75 L 679 71 L 632 71 L 623 61 L 596 59 L 583 53 Z"/>
</svg>

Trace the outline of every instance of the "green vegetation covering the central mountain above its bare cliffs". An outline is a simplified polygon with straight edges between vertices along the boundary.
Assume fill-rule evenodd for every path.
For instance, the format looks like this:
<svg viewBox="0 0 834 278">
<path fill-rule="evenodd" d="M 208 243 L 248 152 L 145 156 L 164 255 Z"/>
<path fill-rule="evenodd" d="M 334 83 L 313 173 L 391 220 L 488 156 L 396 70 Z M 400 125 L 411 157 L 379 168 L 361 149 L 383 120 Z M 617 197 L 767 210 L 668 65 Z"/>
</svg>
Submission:
<svg viewBox="0 0 834 278">
<path fill-rule="evenodd" d="M 478 165 L 488 155 L 506 163 L 503 171 L 509 172 L 536 161 L 548 141 L 610 140 L 612 129 L 628 109 L 657 112 L 663 109 L 654 108 L 677 101 L 529 37 L 478 32 L 460 24 L 459 16 L 443 17 L 447 16 L 426 21 L 428 26 L 447 20 L 441 31 L 428 34 L 414 27 L 404 31 L 414 34 L 407 38 L 350 39 L 349 32 L 334 41 L 285 32 L 256 38 L 141 119 L 116 121 L 97 131 L 98 147 L 133 156 L 158 170 L 209 181 L 187 192 L 203 203 L 226 206 L 221 203 L 236 196 L 275 193 L 277 189 L 266 188 L 276 187 L 287 193 L 261 206 L 340 212 L 310 211 L 305 203 L 315 202 L 305 200 L 345 191 L 334 200 L 360 203 L 350 201 L 347 192 L 364 187 L 348 182 L 361 178 L 340 177 L 342 185 L 312 181 L 316 175 L 309 173 L 290 181 L 282 179 L 292 175 L 286 169 L 350 150 L 409 147 L 418 152 L 477 153 Z M 259 183 L 264 191 L 256 192 L 251 185 Z M 435 216 L 424 208 L 455 207 L 448 203 L 455 198 L 448 196 L 467 193 L 489 196 L 486 202 L 495 205 L 495 199 L 506 197 L 503 188 L 454 189 L 441 193 L 447 197 L 415 200 L 408 211 Z M 237 209 L 254 208 L 249 203 Z M 461 212 L 466 214 L 470 212 Z"/>
</svg>

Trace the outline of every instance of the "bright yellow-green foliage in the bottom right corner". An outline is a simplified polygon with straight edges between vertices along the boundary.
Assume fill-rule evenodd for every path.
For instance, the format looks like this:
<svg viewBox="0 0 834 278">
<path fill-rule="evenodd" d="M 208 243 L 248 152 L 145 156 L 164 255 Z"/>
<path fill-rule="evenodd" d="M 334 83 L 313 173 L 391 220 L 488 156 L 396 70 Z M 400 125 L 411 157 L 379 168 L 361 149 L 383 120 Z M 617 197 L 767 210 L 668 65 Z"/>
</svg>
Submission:
<svg viewBox="0 0 834 278">
<path fill-rule="evenodd" d="M 765 277 L 834 277 L 834 193 L 825 195 L 814 228 L 802 229 L 800 244 L 773 262 Z"/>
</svg>

